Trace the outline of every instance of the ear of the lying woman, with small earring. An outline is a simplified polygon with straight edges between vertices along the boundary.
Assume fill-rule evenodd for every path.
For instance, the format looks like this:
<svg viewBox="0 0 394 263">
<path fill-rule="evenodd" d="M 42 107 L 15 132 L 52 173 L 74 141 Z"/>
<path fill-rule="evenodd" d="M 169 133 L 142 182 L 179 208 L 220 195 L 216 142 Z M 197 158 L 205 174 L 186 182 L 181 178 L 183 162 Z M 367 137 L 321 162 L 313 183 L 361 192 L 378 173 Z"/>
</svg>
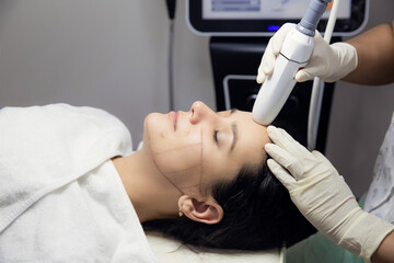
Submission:
<svg viewBox="0 0 394 263">
<path fill-rule="evenodd" d="M 192 220 L 212 225 L 223 218 L 223 209 L 213 197 L 199 202 L 188 195 L 183 195 L 178 199 L 181 211 Z"/>
</svg>

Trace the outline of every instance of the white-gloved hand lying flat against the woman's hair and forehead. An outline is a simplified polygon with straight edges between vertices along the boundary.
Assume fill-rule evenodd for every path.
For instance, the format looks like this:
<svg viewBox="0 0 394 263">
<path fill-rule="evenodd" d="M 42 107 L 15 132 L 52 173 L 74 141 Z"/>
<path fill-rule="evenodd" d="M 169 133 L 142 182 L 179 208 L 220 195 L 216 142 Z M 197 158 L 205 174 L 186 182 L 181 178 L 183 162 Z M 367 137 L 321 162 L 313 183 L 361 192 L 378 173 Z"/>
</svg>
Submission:
<svg viewBox="0 0 394 263">
<path fill-rule="evenodd" d="M 310 152 L 283 129 L 269 126 L 268 167 L 302 215 L 336 244 L 367 262 L 394 226 L 363 211 L 345 180 L 318 151 Z"/>
</svg>

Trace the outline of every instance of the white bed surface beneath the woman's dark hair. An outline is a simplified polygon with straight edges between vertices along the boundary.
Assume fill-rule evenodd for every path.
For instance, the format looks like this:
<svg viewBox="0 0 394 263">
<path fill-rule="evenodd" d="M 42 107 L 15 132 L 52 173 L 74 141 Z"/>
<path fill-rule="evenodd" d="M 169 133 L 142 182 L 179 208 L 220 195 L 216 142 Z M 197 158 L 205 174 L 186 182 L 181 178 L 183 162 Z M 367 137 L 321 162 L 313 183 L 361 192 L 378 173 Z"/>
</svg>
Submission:
<svg viewBox="0 0 394 263">
<path fill-rule="evenodd" d="M 219 249 L 193 249 L 161 233 L 147 232 L 153 253 L 160 263 L 283 263 L 285 250 L 240 251 Z"/>
</svg>

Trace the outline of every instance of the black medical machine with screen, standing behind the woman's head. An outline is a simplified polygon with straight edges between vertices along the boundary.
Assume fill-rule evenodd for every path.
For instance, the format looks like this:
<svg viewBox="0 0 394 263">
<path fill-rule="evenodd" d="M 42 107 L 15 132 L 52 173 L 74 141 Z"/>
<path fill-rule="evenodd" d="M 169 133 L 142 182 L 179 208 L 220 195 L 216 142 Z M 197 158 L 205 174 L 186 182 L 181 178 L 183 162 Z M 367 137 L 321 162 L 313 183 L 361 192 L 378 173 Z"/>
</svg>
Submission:
<svg viewBox="0 0 394 263">
<path fill-rule="evenodd" d="M 299 23 L 311 0 L 188 0 L 186 22 L 192 32 L 210 36 L 217 110 L 252 111 L 260 84 L 257 68 L 269 37 L 287 22 Z M 335 3 L 336 0 L 334 0 Z M 324 35 L 332 3 L 323 13 L 317 31 Z M 332 42 L 359 33 L 368 20 L 369 0 L 341 0 Z M 274 125 L 287 129 L 308 146 L 312 82 L 296 83 Z M 335 83 L 321 92 L 315 149 L 324 152 Z"/>
</svg>

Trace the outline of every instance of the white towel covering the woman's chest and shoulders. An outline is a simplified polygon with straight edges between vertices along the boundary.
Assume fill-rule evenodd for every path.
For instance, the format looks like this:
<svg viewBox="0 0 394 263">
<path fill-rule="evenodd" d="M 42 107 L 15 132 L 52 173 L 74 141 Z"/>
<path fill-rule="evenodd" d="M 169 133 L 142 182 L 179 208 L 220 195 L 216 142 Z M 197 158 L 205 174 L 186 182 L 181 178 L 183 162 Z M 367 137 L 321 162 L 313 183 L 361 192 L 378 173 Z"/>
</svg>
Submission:
<svg viewBox="0 0 394 263">
<path fill-rule="evenodd" d="M 0 111 L 0 262 L 155 262 L 109 160 L 131 155 L 111 114 Z"/>
</svg>

